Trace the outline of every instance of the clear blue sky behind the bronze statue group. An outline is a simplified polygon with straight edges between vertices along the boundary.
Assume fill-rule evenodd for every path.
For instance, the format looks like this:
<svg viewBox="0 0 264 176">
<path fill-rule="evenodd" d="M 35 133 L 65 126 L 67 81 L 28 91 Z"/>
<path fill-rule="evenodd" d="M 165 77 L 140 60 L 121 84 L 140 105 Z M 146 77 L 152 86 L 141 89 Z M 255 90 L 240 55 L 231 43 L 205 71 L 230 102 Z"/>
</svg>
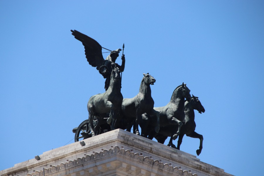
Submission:
<svg viewBox="0 0 264 176">
<path fill-rule="evenodd" d="M 264 1 L 0 1 L 0 24 L 0 170 L 73 143 L 89 98 L 104 92 L 76 29 L 111 50 L 125 43 L 124 98 L 143 72 L 156 79 L 155 107 L 187 84 L 206 110 L 195 112 L 197 158 L 262 172 Z M 183 138 L 181 150 L 198 147 Z"/>
</svg>

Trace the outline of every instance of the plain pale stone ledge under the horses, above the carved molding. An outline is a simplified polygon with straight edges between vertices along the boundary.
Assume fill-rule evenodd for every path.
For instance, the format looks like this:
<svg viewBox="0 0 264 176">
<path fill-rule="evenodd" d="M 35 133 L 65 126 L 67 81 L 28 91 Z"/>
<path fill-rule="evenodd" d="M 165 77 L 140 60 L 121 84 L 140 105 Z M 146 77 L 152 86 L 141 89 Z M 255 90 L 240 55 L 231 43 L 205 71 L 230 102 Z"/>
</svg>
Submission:
<svg viewBox="0 0 264 176">
<path fill-rule="evenodd" d="M 31 160 L 28 160 L 22 163 L 18 163 L 14 167 L 0 171 L 0 175 L 2 176 L 28 175 L 28 173 L 33 173 L 33 170 L 39 170 L 38 172 L 40 172 L 41 170 L 43 170 L 43 167 L 47 168 L 47 170 L 56 170 L 56 168 L 63 167 L 63 165 L 65 165 L 66 163 L 69 163 L 70 161 L 71 162 L 82 162 L 81 161 L 83 160 L 82 158 L 84 158 L 84 155 L 87 156 L 88 153 L 92 153 L 92 152 L 94 153 L 94 154 L 89 155 L 90 157 L 94 155 L 101 155 L 102 151 L 105 152 L 108 149 L 109 151 L 111 151 L 113 150 L 112 148 L 114 146 L 119 146 L 120 151 L 126 151 L 127 153 L 129 151 L 129 153 L 133 153 L 134 155 L 136 155 L 137 153 L 137 155 L 139 156 L 136 155 L 136 157 L 141 158 L 142 161 L 145 161 L 143 157 L 145 156 L 145 158 L 148 157 L 149 161 L 154 162 L 155 160 L 157 160 L 158 163 L 162 163 L 162 162 L 166 163 L 164 165 L 162 163 L 161 165 L 163 165 L 163 167 L 170 168 L 170 170 L 171 168 L 175 168 L 175 167 L 170 166 L 171 164 L 173 166 L 177 166 L 178 170 L 192 170 L 194 174 L 197 173 L 197 175 L 201 175 L 201 176 L 202 175 L 207 175 L 207 176 L 208 175 L 212 175 L 212 176 L 213 175 L 215 176 L 220 176 L 220 175 L 229 176 L 230 175 L 224 172 L 223 169 L 220 169 L 218 167 L 214 167 L 207 163 L 201 162 L 194 155 L 190 155 L 183 151 L 176 150 L 174 148 L 171 148 L 166 145 L 157 143 L 155 141 L 143 138 L 141 136 L 137 136 L 133 133 L 130 133 L 130 132 L 127 132 L 121 129 L 109 131 L 107 133 L 103 133 L 101 135 L 85 139 L 83 141 L 86 144 L 85 146 L 81 146 L 79 142 L 76 142 L 76 143 L 72 143 L 72 144 L 69 144 L 69 145 L 66 145 L 60 148 L 49 150 L 47 152 L 44 152 L 42 155 L 39 155 L 41 158 L 40 160 L 37 161 L 35 159 L 31 159 Z M 126 150 L 123 148 L 126 148 Z M 107 158 L 107 156 L 104 156 L 104 159 L 106 160 L 112 160 L 110 158 L 109 157 Z M 126 163 L 125 162 L 126 160 L 131 160 L 131 158 L 130 159 L 127 158 L 126 160 L 124 160 L 123 155 L 120 155 L 118 158 L 122 160 L 123 163 Z M 157 161 L 155 161 L 156 164 L 157 164 Z M 139 162 L 139 161 L 135 161 L 135 162 Z M 101 161 L 100 158 L 97 158 L 97 163 L 102 164 L 104 162 Z M 62 166 L 60 166 L 61 164 Z M 50 167 L 50 165 L 52 165 L 52 167 Z M 143 167 L 142 164 L 141 166 Z M 95 166 L 90 165 L 89 167 L 95 167 Z M 104 170 L 105 167 L 106 166 L 100 166 L 99 171 Z M 151 170 L 148 171 L 147 167 L 146 168 L 144 167 L 143 170 L 146 170 L 146 172 L 142 171 L 142 173 L 148 173 L 147 175 L 154 173 L 154 172 L 151 172 Z M 162 170 L 162 169 L 158 168 L 157 170 Z M 139 175 L 142 174 L 141 172 L 137 172 L 137 173 Z M 172 173 L 168 172 L 167 174 L 170 175 Z M 37 174 L 33 174 L 33 175 L 37 175 Z M 63 175 L 60 175 L 60 176 L 63 176 Z"/>
</svg>

